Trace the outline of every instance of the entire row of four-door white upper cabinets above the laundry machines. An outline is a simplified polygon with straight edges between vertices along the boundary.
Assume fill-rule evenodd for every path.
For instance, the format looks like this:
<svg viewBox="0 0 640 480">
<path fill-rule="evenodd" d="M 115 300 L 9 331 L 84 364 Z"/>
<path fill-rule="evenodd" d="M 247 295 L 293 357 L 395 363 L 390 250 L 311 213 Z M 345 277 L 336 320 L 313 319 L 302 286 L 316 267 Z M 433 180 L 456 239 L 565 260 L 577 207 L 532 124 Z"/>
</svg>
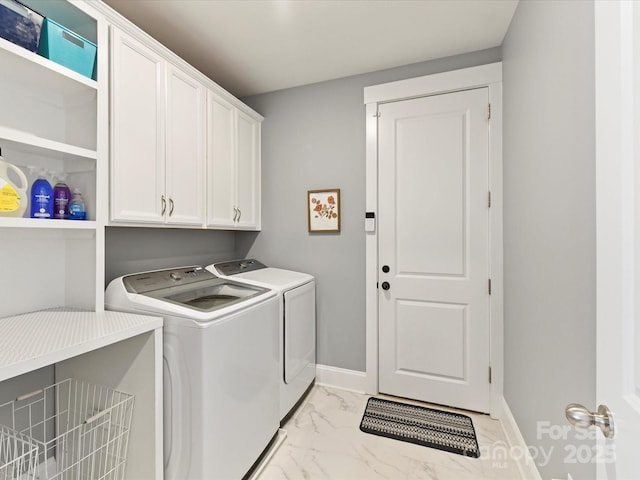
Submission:
<svg viewBox="0 0 640 480">
<path fill-rule="evenodd" d="M 260 230 L 262 116 L 123 21 L 110 80 L 111 224 Z"/>
</svg>

